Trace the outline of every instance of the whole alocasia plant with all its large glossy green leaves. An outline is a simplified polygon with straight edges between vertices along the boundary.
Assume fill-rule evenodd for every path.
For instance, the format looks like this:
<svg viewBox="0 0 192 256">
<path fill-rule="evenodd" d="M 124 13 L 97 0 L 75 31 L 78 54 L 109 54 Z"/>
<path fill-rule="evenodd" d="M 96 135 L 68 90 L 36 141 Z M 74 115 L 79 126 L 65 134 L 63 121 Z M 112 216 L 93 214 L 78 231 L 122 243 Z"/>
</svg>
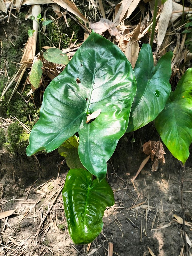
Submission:
<svg viewBox="0 0 192 256">
<path fill-rule="evenodd" d="M 165 145 L 185 163 L 192 140 L 192 69 L 170 94 L 171 58 L 168 52 L 154 67 L 150 46 L 143 45 L 134 76 L 121 50 L 92 32 L 45 90 L 26 153 L 58 148 L 66 158 L 70 170 L 62 196 L 75 243 L 93 241 L 102 230 L 106 206 L 114 204 L 106 162 L 125 131 L 155 119 Z M 87 121 L 92 113 L 98 114 Z"/>
</svg>

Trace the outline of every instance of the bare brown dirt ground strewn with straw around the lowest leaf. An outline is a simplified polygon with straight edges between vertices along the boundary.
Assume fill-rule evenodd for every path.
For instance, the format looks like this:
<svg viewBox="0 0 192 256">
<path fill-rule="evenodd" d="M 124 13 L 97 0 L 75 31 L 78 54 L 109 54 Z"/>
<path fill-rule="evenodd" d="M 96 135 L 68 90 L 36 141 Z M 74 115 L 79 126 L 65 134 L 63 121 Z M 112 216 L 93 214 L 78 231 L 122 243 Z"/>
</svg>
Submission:
<svg viewBox="0 0 192 256">
<path fill-rule="evenodd" d="M 131 143 L 134 136 L 135 142 Z M 174 215 L 182 217 L 181 165 L 165 148 L 164 165 L 151 172 L 151 160 L 136 178 L 131 178 L 146 155 L 142 144 L 159 140 L 153 123 L 119 141 L 108 161 L 108 182 L 114 196 L 114 206 L 106 209 L 101 234 L 87 245 L 71 241 L 63 210 L 61 190 L 68 167 L 57 151 L 33 157 L 17 155 L 14 160 L 1 152 L 0 210 L 15 210 L 2 219 L 1 250 L 3 255 L 107 255 L 108 242 L 113 243 L 113 255 L 180 255 L 184 246 L 182 225 Z M 28 165 L 33 163 L 33 175 Z M 191 157 L 184 176 L 184 207 L 186 233 L 192 240 L 192 172 Z M 14 176 L 13 176 L 14 175 Z M 150 248 L 150 249 L 148 249 Z M 152 253 L 151 252 L 151 253 Z"/>
</svg>

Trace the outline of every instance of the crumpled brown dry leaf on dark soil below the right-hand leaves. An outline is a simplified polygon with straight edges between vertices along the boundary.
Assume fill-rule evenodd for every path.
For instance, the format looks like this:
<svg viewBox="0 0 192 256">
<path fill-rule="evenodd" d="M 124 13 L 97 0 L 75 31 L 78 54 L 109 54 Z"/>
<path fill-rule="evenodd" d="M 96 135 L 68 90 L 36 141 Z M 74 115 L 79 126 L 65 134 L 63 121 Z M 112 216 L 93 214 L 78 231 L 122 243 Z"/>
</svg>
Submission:
<svg viewBox="0 0 192 256">
<path fill-rule="evenodd" d="M 150 155 L 151 161 L 154 160 L 151 167 L 152 172 L 156 172 L 159 166 L 159 161 L 165 163 L 164 155 L 166 154 L 163 148 L 163 144 L 160 141 L 148 141 L 143 144 L 143 152 L 146 155 Z"/>
</svg>

